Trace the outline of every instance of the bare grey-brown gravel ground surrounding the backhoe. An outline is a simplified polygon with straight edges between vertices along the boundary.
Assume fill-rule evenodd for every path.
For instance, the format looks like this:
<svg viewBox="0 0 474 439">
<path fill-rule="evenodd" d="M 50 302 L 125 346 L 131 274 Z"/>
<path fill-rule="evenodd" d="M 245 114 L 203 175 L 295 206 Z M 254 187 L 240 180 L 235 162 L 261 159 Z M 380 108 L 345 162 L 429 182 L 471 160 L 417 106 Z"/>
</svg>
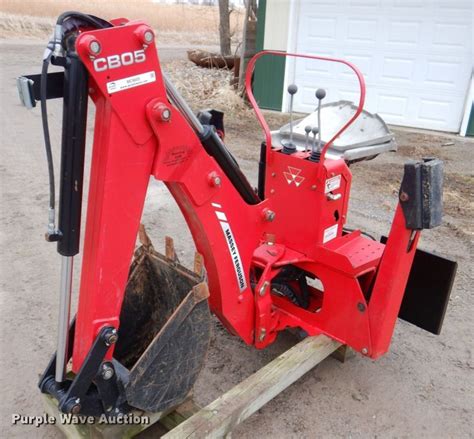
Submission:
<svg viewBox="0 0 474 439">
<path fill-rule="evenodd" d="M 11 425 L 12 413 L 43 413 L 36 383 L 54 350 L 56 336 L 59 257 L 54 246 L 42 239 L 48 195 L 40 114 L 20 107 L 14 83 L 18 75 L 38 71 L 42 45 L 3 40 L 0 50 L 0 388 L 4 395 L 0 436 L 55 438 L 61 434 L 52 426 Z M 184 49 L 164 48 L 160 53 L 166 65 L 182 57 Z M 56 157 L 60 117 L 57 103 L 50 105 Z M 276 127 L 282 116 L 269 114 L 269 119 Z M 353 166 L 348 225 L 377 235 L 386 233 L 403 163 L 426 155 L 445 160 L 445 222 L 424 233 L 421 242 L 423 248 L 459 262 L 442 334 L 435 337 L 400 321 L 386 356 L 376 362 L 356 356 L 344 364 L 329 358 L 239 426 L 233 437 L 474 435 L 474 142 L 414 130 L 395 132 L 400 146 L 397 154 Z M 228 115 L 227 136 L 242 169 L 255 182 L 262 138 L 257 124 Z M 185 223 L 164 186 L 154 181 L 150 182 L 143 222 L 157 248 L 163 248 L 164 235 L 175 236 L 180 258 L 192 260 L 194 246 Z M 76 274 L 79 268 L 77 264 Z M 257 351 L 227 334 L 215 321 L 211 349 L 196 383 L 197 402 L 211 402 L 294 343 L 293 336 L 285 333 L 270 348 Z"/>
</svg>

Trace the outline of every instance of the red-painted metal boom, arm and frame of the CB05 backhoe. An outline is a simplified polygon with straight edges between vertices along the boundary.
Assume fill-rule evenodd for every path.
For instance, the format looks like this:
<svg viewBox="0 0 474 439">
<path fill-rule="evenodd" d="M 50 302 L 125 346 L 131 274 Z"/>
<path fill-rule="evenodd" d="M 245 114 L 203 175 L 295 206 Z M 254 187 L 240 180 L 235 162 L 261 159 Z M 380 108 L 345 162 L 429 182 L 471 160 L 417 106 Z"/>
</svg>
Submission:
<svg viewBox="0 0 474 439">
<path fill-rule="evenodd" d="M 300 327 L 373 358 L 385 352 L 418 240 L 417 234 L 407 251 L 412 233 L 400 208 L 386 246 L 359 231 L 343 233 L 349 168 L 343 160 L 313 163 L 306 160 L 307 153 L 286 155 L 272 147 L 249 88 L 269 147 L 265 197 L 248 205 L 168 101 L 155 43 L 143 44 L 146 24 L 114 23 L 113 28 L 84 32 L 76 43 L 90 73 L 96 125 L 73 370 L 79 370 L 101 327 L 120 325 L 150 176 L 163 181 L 179 205 L 204 257 L 211 309 L 231 333 L 264 348 L 278 331 Z M 99 58 L 85 50 L 90 37 L 100 42 Z M 134 58 L 138 62 L 129 62 Z M 354 66 L 309 58 L 353 68 L 363 104 L 365 86 Z M 116 66 L 117 59 L 118 67 L 103 68 L 110 60 Z M 272 279 L 288 265 L 312 279 L 308 309 L 272 292 Z"/>
</svg>

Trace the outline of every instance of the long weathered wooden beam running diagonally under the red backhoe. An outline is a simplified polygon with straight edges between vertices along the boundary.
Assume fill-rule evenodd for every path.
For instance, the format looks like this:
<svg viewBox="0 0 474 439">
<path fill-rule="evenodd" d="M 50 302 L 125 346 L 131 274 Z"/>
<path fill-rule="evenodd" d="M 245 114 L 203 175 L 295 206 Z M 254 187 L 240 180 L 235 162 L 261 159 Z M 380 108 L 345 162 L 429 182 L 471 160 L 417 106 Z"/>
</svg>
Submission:
<svg viewBox="0 0 474 439">
<path fill-rule="evenodd" d="M 222 438 L 341 346 L 324 336 L 307 337 L 246 380 L 182 422 L 166 439 Z"/>
</svg>

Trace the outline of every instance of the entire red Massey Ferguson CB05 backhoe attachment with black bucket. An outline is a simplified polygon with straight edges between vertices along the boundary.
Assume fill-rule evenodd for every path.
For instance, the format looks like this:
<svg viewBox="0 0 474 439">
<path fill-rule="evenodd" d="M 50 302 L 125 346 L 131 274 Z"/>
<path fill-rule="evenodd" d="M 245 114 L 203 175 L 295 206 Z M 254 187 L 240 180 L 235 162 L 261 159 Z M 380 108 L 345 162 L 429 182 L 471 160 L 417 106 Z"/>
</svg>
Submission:
<svg viewBox="0 0 474 439">
<path fill-rule="evenodd" d="M 327 142 L 320 124 L 309 127 L 306 145 L 293 138 L 291 115 L 289 140 L 275 143 L 252 93 L 253 69 L 264 55 L 352 69 L 357 111 Z M 50 63 L 64 73 L 48 74 Z M 58 349 L 40 381 L 63 412 L 117 416 L 181 402 L 205 358 L 209 308 L 259 349 L 279 331 L 299 328 L 378 358 L 401 307 L 402 317 L 439 333 L 456 264 L 416 248 L 421 230 L 441 223 L 442 162 L 406 164 L 388 239 L 378 242 L 345 227 L 352 175 L 344 159 L 327 155 L 362 111 L 359 70 L 338 59 L 262 52 L 250 61 L 246 82 L 265 132 L 257 189 L 223 143 L 222 114 L 195 116 L 163 74 L 153 30 L 142 21 L 62 14 L 42 74 L 19 78 L 23 102 L 41 102 L 50 159 L 46 101 L 64 100 L 59 226 L 51 178 L 47 233 L 63 258 Z M 297 87 L 288 91 L 293 99 Z M 316 92 L 319 109 L 325 95 Z M 79 304 L 70 324 L 89 97 L 94 146 Z M 143 230 L 132 262 L 150 176 L 180 207 L 205 278 L 156 253 Z"/>
</svg>

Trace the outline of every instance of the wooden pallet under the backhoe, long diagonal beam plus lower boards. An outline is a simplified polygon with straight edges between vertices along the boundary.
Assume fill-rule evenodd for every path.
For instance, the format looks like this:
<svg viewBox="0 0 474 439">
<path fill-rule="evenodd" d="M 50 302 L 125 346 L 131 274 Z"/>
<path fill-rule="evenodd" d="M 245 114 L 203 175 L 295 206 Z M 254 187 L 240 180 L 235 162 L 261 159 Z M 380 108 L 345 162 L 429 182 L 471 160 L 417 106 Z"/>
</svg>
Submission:
<svg viewBox="0 0 474 439">
<path fill-rule="evenodd" d="M 69 425 L 59 422 L 56 403 L 45 396 L 47 414 L 69 438 L 132 438 L 159 423 L 165 439 L 228 438 L 232 429 L 263 407 L 322 360 L 333 354 L 344 361 L 346 346 L 324 336 L 307 337 L 204 408 L 190 399 L 169 413 L 149 414 L 148 424 Z M 137 416 L 143 412 L 135 412 Z M 154 426 L 154 429 L 157 426 Z M 166 432 L 167 431 L 167 432 Z M 157 437 L 157 433 L 153 433 Z"/>
</svg>

